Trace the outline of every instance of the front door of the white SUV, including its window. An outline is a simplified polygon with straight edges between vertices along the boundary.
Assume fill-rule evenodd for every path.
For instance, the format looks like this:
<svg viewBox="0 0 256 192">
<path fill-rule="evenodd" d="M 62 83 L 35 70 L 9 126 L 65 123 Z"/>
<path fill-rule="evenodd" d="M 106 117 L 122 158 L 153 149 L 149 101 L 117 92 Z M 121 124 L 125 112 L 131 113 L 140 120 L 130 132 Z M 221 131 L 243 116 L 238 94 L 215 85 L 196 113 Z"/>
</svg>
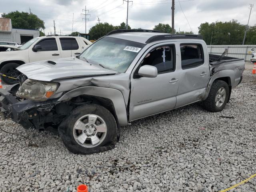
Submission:
<svg viewBox="0 0 256 192">
<path fill-rule="evenodd" d="M 42 50 L 34 51 L 32 47 L 30 47 L 29 62 L 60 58 L 60 47 L 55 38 L 44 38 L 34 46 L 36 45 L 40 45 Z"/>
</svg>

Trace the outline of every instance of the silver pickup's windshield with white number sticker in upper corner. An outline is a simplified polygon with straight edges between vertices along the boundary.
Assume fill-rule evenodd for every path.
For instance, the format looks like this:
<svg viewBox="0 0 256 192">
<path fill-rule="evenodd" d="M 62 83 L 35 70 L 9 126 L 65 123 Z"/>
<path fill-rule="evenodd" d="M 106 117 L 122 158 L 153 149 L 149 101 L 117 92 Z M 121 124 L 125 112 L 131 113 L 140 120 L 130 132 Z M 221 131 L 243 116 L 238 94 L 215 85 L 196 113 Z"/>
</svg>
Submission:
<svg viewBox="0 0 256 192">
<path fill-rule="evenodd" d="M 144 46 L 138 42 L 104 37 L 88 47 L 80 58 L 123 73 Z"/>
</svg>

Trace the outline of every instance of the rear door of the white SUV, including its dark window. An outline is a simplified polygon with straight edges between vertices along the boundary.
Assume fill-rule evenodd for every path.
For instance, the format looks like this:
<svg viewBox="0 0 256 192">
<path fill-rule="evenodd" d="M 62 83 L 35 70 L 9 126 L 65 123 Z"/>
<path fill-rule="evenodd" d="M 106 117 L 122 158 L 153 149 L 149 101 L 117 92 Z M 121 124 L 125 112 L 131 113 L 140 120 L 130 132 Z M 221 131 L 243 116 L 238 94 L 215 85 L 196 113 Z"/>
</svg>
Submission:
<svg viewBox="0 0 256 192">
<path fill-rule="evenodd" d="M 82 52 L 76 38 L 60 37 L 61 57 L 70 57 L 80 55 Z"/>
</svg>

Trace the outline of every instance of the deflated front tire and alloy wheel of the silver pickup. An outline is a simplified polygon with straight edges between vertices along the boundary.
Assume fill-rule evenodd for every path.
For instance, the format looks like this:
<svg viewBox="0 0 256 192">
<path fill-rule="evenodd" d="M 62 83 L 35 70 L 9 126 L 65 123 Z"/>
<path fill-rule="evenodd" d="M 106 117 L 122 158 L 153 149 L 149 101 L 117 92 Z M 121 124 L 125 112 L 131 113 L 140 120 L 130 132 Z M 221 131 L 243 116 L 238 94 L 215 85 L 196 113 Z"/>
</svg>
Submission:
<svg viewBox="0 0 256 192">
<path fill-rule="evenodd" d="M 103 106 L 86 104 L 75 108 L 58 128 L 60 138 L 75 154 L 92 154 L 114 148 L 118 127 Z"/>
</svg>

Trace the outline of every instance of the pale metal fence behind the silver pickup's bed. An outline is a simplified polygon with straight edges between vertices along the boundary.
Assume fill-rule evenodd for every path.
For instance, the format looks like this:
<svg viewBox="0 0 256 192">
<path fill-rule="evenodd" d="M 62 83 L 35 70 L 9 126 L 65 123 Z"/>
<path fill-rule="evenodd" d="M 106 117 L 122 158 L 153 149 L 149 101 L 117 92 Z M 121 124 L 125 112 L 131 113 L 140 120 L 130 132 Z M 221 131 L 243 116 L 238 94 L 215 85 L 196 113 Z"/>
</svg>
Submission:
<svg viewBox="0 0 256 192">
<path fill-rule="evenodd" d="M 221 55 L 225 49 L 228 49 L 226 56 L 244 58 L 250 61 L 252 54 L 256 52 L 256 45 L 208 45 L 208 52 L 210 54 Z"/>
</svg>

